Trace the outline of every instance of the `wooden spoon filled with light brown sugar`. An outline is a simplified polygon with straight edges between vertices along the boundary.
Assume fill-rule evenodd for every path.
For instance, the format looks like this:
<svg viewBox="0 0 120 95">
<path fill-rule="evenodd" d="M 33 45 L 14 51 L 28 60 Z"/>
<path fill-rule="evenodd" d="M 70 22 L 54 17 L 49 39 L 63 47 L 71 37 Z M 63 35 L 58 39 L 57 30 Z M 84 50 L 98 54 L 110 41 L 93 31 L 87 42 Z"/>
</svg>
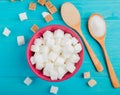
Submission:
<svg viewBox="0 0 120 95">
<path fill-rule="evenodd" d="M 96 55 L 94 54 L 92 48 L 89 46 L 87 40 L 85 39 L 85 37 L 83 36 L 83 34 L 81 32 L 81 29 L 80 29 L 81 20 L 80 20 L 80 14 L 79 14 L 78 10 L 74 7 L 73 4 L 71 4 L 69 2 L 64 3 L 61 7 L 61 16 L 62 16 L 64 22 L 68 26 L 70 26 L 71 28 L 73 28 L 80 34 L 96 70 L 98 72 L 103 71 L 102 65 L 100 64 L 100 62 L 97 59 Z"/>
</svg>

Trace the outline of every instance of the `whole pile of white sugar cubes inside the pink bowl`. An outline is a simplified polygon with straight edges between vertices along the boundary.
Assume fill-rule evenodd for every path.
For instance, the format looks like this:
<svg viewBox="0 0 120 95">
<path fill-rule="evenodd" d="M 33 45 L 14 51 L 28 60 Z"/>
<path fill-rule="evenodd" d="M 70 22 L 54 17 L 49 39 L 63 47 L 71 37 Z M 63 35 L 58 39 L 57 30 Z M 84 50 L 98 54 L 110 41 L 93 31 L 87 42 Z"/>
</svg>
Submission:
<svg viewBox="0 0 120 95">
<path fill-rule="evenodd" d="M 82 46 L 75 37 L 61 29 L 45 31 L 31 46 L 34 53 L 30 61 L 37 70 L 51 80 L 60 80 L 66 73 L 73 73 L 79 62 Z"/>
</svg>

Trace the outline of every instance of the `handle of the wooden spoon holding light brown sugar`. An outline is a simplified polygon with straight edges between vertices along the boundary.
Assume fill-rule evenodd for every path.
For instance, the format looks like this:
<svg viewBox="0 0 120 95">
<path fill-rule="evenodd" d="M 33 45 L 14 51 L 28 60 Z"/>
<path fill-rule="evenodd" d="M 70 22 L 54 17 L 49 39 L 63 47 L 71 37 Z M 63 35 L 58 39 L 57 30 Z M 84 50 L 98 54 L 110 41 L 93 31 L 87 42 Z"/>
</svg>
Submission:
<svg viewBox="0 0 120 95">
<path fill-rule="evenodd" d="M 83 36 L 82 32 L 80 29 L 76 29 L 76 31 L 80 34 L 81 38 L 83 39 L 83 42 L 86 46 L 86 49 L 89 53 L 89 56 L 96 68 L 96 70 L 98 72 L 102 72 L 103 71 L 103 66 L 101 65 L 100 61 L 98 60 L 98 58 L 96 57 L 95 53 L 93 52 L 92 48 L 90 47 L 90 45 L 88 44 L 87 40 L 85 39 L 85 37 Z"/>
</svg>

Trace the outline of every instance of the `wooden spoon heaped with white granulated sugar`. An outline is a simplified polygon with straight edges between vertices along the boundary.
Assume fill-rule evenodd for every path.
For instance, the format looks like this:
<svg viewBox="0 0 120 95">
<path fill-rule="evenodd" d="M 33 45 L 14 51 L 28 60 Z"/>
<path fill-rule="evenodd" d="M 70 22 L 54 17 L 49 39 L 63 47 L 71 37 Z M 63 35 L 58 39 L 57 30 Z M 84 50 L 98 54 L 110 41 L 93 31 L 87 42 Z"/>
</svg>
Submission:
<svg viewBox="0 0 120 95">
<path fill-rule="evenodd" d="M 99 14 L 91 15 L 89 18 L 89 21 L 88 21 L 88 29 L 89 29 L 91 36 L 102 47 L 104 55 L 105 55 L 106 64 L 107 64 L 109 76 L 111 79 L 111 83 L 112 83 L 114 88 L 118 88 L 120 85 L 119 85 L 118 79 L 116 77 L 116 74 L 113 70 L 112 64 L 109 60 L 109 57 L 108 57 L 108 54 L 107 54 L 107 51 L 105 48 L 105 44 L 104 44 L 105 36 L 106 36 L 106 24 L 105 24 L 103 17 Z"/>
</svg>

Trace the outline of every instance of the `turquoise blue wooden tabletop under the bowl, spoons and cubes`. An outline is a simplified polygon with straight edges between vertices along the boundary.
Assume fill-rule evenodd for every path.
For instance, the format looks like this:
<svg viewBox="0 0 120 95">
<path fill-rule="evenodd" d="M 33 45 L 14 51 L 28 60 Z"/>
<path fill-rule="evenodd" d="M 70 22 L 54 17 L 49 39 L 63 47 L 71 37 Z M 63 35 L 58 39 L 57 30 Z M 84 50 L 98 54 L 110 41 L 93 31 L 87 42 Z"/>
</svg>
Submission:
<svg viewBox="0 0 120 95">
<path fill-rule="evenodd" d="M 120 0 L 51 0 L 57 6 L 58 12 L 53 15 L 54 21 L 48 24 L 41 16 L 41 12 L 47 9 L 37 4 L 36 11 L 30 11 L 28 5 L 31 1 L 37 0 L 14 3 L 0 0 L 0 95 L 51 95 L 49 93 L 51 85 L 59 87 L 58 95 L 120 95 L 120 88 L 114 89 L 111 86 L 101 48 L 87 30 L 87 20 L 92 13 L 100 13 L 104 16 L 107 23 L 105 44 L 120 81 Z M 104 66 L 104 71 L 96 72 L 85 49 L 85 58 L 80 70 L 66 81 L 51 83 L 38 78 L 28 66 L 26 48 L 33 35 L 30 27 L 33 24 L 39 25 L 40 28 L 50 24 L 65 25 L 60 17 L 60 6 L 67 1 L 79 9 L 83 34 Z M 21 12 L 27 12 L 29 19 L 21 22 L 18 18 Z M 2 35 L 4 27 L 12 31 L 9 37 Z M 26 40 L 26 44 L 21 47 L 16 41 L 19 35 L 24 35 Z M 89 79 L 83 79 L 82 74 L 85 71 L 90 71 L 91 78 L 97 81 L 95 87 L 90 88 L 87 85 Z M 30 86 L 23 83 L 26 76 L 30 76 L 33 80 Z"/>
</svg>

